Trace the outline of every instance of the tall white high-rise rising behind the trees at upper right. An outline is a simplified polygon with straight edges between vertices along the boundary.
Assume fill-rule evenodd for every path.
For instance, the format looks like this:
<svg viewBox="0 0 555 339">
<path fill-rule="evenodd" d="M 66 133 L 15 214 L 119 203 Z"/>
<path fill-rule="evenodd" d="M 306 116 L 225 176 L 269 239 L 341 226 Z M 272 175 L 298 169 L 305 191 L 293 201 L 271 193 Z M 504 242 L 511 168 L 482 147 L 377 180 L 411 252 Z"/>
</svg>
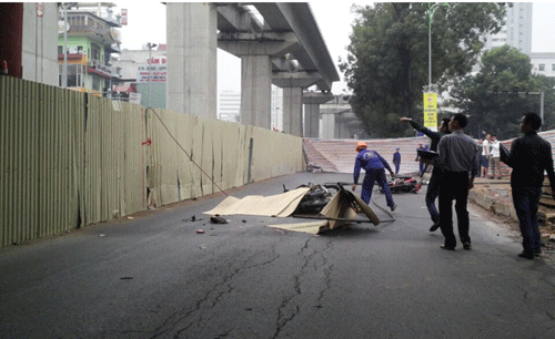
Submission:
<svg viewBox="0 0 555 339">
<path fill-rule="evenodd" d="M 491 50 L 508 44 L 529 55 L 532 53 L 532 2 L 507 4 L 505 21 L 505 25 L 497 34 L 486 35 L 485 49 Z"/>
</svg>

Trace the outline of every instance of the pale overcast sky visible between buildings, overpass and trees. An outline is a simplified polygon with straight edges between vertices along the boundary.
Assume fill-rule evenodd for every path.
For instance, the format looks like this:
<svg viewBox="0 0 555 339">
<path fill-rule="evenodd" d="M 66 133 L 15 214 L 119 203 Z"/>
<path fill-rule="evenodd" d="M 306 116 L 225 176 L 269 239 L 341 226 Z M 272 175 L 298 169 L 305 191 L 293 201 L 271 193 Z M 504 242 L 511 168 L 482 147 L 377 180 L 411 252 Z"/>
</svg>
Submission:
<svg viewBox="0 0 555 339">
<path fill-rule="evenodd" d="M 122 48 L 141 49 L 147 42 L 165 43 L 165 6 L 153 1 L 115 1 L 118 9 L 128 9 L 129 24 L 121 29 Z M 339 58 L 345 60 L 345 48 L 349 45 L 351 24 L 355 18 L 351 6 L 371 4 L 371 1 L 309 1 L 322 37 L 337 65 Z M 119 10 L 115 12 L 120 12 Z M 555 52 L 555 2 L 534 2 L 532 27 L 532 52 Z M 240 59 L 219 50 L 218 53 L 218 91 L 239 91 L 241 83 Z M 341 81 L 332 88 L 334 94 L 347 90 L 339 66 Z"/>
</svg>

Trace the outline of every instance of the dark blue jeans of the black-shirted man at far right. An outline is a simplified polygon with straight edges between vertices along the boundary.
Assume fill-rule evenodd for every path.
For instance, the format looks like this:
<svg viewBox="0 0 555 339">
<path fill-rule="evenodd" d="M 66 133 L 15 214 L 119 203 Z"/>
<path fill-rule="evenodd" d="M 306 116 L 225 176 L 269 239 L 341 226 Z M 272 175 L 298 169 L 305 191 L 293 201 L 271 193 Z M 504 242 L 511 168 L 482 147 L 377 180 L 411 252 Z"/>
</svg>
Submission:
<svg viewBox="0 0 555 339">
<path fill-rule="evenodd" d="M 537 208 L 541 196 L 542 187 L 513 187 L 513 204 L 518 217 L 522 246 L 524 253 L 531 255 L 541 250 L 539 226 L 537 223 Z"/>
</svg>

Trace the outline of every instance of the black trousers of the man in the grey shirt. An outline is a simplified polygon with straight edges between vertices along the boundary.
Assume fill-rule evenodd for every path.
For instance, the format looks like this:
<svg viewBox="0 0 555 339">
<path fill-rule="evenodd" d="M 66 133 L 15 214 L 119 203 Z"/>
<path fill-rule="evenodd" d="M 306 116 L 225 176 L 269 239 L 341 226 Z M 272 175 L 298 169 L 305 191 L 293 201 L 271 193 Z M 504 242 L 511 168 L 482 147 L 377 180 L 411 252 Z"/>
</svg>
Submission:
<svg viewBox="0 0 555 339">
<path fill-rule="evenodd" d="M 468 236 L 470 219 L 468 210 L 468 173 L 467 172 L 443 172 L 440 185 L 440 227 L 445 237 L 445 246 L 455 247 L 456 238 L 453 232 L 453 201 L 458 227 L 461 243 L 471 243 Z"/>
</svg>

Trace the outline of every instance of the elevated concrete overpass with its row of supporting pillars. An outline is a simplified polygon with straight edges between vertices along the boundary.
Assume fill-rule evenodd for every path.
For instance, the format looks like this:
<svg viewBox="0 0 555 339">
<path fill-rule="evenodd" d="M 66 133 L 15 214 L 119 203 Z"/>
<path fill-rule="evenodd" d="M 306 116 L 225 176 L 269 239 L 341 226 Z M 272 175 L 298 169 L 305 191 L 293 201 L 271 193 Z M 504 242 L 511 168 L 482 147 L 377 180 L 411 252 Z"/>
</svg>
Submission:
<svg viewBox="0 0 555 339">
<path fill-rule="evenodd" d="M 284 89 L 284 132 L 319 137 L 320 104 L 340 78 L 309 3 L 168 2 L 167 12 L 168 109 L 215 119 L 221 48 L 241 58 L 241 123 L 271 127 L 274 84 Z M 303 97 L 312 85 L 319 92 Z"/>
</svg>

